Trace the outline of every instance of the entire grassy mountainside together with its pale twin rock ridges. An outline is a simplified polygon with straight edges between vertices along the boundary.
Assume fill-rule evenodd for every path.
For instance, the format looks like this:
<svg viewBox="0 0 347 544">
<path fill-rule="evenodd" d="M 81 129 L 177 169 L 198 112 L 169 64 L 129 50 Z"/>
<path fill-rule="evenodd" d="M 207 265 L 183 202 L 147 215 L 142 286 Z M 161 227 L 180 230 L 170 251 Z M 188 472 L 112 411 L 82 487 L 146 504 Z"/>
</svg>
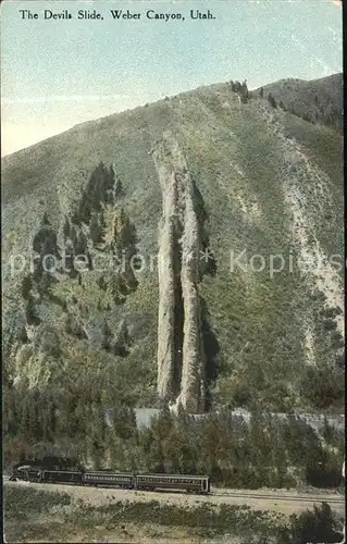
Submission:
<svg viewBox="0 0 347 544">
<path fill-rule="evenodd" d="M 333 90 L 334 79 L 332 85 L 325 82 L 324 88 Z M 47 354 L 35 350 L 30 368 L 36 376 L 41 375 L 36 372 L 41 363 L 38 356 L 45 357 L 42 364 L 53 383 L 69 391 L 82 361 L 86 388 L 97 376 L 117 396 L 139 406 L 157 406 L 157 347 L 160 396 L 168 394 L 172 403 L 179 395 L 194 397 L 183 393 L 194 390 L 193 379 L 182 387 L 183 374 L 191 375 L 193 370 L 184 371 L 184 339 L 198 326 L 203 349 L 191 334 L 188 353 L 206 410 L 249 407 L 255 401 L 273 411 L 309 410 L 315 403 L 310 376 L 317 376 L 321 368 L 324 372 L 332 369 L 330 374 L 318 375 L 318 403 L 321 386 L 330 394 L 337 379 L 343 383 L 343 140 L 338 132 L 283 110 L 280 102 L 287 107 L 285 97 L 289 103 L 293 96 L 298 114 L 306 113 L 307 106 L 312 107 L 309 113 L 314 112 L 315 84 L 312 103 L 310 94 L 295 96 L 296 87 L 292 92 L 284 85 L 278 97 L 275 89 L 269 89 L 277 108 L 253 95 L 238 107 L 238 95 L 226 84 L 200 87 L 79 125 L 4 159 L 2 344 L 9 383 L 10 378 L 28 374 L 33 334 L 39 334 L 45 324 L 60 333 L 63 364 L 57 361 L 53 371 Z M 327 106 L 336 103 L 334 92 L 326 98 Z M 163 128 L 172 131 L 179 146 L 170 135 L 162 141 Z M 156 139 L 162 143 L 151 153 Z M 103 168 L 97 166 L 100 159 Z M 115 175 L 113 182 L 109 165 L 114 163 L 125 191 Z M 201 282 L 182 262 L 190 199 L 185 189 L 190 184 L 198 242 L 203 248 L 200 225 L 208 208 L 219 262 L 212 280 L 203 275 L 205 260 L 200 260 Z M 206 202 L 200 208 L 197 184 Z M 169 211 L 163 210 L 163 201 Z M 136 225 L 136 244 L 128 223 L 121 221 L 123 208 Z M 45 211 L 48 218 L 42 221 Z M 161 217 L 159 301 L 152 257 L 158 254 Z M 119 267 L 124 246 L 125 262 L 134 246 L 142 258 L 144 267 L 133 277 L 132 270 L 127 274 Z M 64 248 L 71 255 L 66 269 L 73 269 L 71 259 L 80 250 L 90 256 L 91 267 L 75 277 L 67 271 L 53 275 L 46 274 L 36 259 L 33 270 L 32 254 L 44 257 L 49 252 L 61 261 Z M 262 271 L 259 259 L 253 259 L 258 255 L 265 260 Z M 273 277 L 271 256 L 275 256 Z M 300 260 L 306 264 L 302 273 Z M 315 267 L 315 261 L 321 265 Z M 49 269 L 50 264 L 49 260 Z M 186 319 L 187 292 L 195 323 Z M 83 335 L 78 329 L 77 335 L 66 331 L 69 312 L 89 339 L 78 337 Z M 117 341 L 122 319 L 126 319 L 129 344 L 123 333 Z M 104 334 L 106 320 L 112 335 Z M 42 390 L 51 387 L 45 380 L 42 374 Z M 326 396 L 332 401 L 339 398 L 339 385 L 335 390 L 336 395 Z"/>
</svg>

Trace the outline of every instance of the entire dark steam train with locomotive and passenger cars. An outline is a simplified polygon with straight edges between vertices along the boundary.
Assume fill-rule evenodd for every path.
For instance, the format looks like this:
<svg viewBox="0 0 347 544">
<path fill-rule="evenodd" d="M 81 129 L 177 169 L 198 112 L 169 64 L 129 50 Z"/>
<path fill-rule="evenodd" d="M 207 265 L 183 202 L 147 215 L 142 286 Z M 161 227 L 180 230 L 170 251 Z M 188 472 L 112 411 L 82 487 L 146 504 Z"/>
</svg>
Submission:
<svg viewBox="0 0 347 544">
<path fill-rule="evenodd" d="M 10 480 L 119 487 L 135 491 L 179 490 L 201 495 L 210 493 L 210 478 L 191 474 L 132 474 L 109 471 L 82 472 L 75 470 L 46 470 L 39 467 L 23 466 L 13 470 Z"/>
</svg>

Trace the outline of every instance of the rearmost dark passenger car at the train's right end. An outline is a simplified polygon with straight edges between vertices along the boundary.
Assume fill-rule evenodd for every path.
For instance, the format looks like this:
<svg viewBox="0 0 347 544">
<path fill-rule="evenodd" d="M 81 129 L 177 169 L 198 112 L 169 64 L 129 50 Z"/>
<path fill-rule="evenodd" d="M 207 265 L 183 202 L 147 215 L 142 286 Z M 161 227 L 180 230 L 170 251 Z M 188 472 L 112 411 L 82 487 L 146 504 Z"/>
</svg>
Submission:
<svg viewBox="0 0 347 544">
<path fill-rule="evenodd" d="M 185 490 L 188 493 L 208 494 L 210 492 L 209 477 L 189 474 L 137 474 L 137 490 Z"/>
</svg>

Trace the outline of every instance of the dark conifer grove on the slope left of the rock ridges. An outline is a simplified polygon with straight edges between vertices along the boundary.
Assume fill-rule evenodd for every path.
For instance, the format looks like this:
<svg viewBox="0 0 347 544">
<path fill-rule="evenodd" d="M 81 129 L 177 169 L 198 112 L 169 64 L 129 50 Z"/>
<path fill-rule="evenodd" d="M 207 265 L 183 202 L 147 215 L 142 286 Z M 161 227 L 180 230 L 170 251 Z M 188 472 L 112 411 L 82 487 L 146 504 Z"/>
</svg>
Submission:
<svg viewBox="0 0 347 544">
<path fill-rule="evenodd" d="M 22 281 L 22 297 L 29 325 L 41 324 L 40 305 L 46 299 L 59 304 L 67 312 L 69 334 L 77 331 L 76 336 L 84 337 L 82 327 L 71 323 L 70 301 L 57 295 L 63 276 L 77 279 L 78 284 L 82 284 L 82 273 L 76 265 L 77 256 L 84 257 L 80 264 L 87 267 L 87 270 L 92 270 L 92 258 L 98 257 L 99 252 L 108 252 L 110 262 L 111 257 L 114 257 L 114 265 L 108 267 L 104 273 L 100 272 L 96 285 L 100 293 L 110 294 L 110 302 L 121 304 L 136 289 L 137 281 L 131 263 L 137 252 L 137 235 L 134 224 L 121 206 L 123 195 L 122 182 L 113 166 L 107 168 L 100 162 L 90 175 L 76 211 L 71 217 L 65 217 L 62 243 L 58 243 L 58 232 L 47 213 L 44 214 L 33 242 L 33 251 L 39 259 L 35 261 L 34 272 Z M 49 259 L 55 261 L 55 268 L 50 265 Z M 116 264 L 122 260 L 125 265 L 119 270 Z"/>
</svg>

